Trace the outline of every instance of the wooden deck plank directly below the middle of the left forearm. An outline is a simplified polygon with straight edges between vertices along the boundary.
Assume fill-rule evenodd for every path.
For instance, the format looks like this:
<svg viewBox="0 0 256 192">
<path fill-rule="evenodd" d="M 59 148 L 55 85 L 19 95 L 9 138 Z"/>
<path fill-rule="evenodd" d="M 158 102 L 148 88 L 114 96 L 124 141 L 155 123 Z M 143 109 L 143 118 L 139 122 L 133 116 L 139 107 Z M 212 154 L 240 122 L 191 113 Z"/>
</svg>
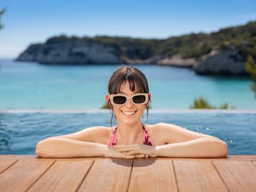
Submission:
<svg viewBox="0 0 256 192">
<path fill-rule="evenodd" d="M 28 191 L 76 191 L 93 161 L 56 161 Z"/>
</svg>

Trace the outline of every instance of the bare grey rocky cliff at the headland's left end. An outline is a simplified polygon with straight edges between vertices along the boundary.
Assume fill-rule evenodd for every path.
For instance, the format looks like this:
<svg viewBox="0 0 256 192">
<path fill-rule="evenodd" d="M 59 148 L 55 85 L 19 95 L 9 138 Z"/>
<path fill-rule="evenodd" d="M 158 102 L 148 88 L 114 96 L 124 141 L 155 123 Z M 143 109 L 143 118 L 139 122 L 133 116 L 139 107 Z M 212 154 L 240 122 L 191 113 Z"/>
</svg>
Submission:
<svg viewBox="0 0 256 192">
<path fill-rule="evenodd" d="M 17 60 L 36 61 L 45 64 L 120 63 L 112 46 L 79 40 L 33 44 Z"/>
</svg>

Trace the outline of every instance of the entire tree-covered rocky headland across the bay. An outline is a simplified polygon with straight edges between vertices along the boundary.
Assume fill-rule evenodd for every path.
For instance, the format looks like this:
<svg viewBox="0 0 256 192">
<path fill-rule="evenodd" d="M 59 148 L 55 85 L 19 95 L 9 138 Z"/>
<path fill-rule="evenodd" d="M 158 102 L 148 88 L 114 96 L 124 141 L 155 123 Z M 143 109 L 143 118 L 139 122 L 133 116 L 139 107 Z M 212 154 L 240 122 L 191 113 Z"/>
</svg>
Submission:
<svg viewBox="0 0 256 192">
<path fill-rule="evenodd" d="M 193 68 L 198 74 L 245 75 L 256 59 L 256 21 L 214 33 L 166 39 L 55 36 L 32 44 L 16 60 L 44 64 L 156 64 Z"/>
</svg>

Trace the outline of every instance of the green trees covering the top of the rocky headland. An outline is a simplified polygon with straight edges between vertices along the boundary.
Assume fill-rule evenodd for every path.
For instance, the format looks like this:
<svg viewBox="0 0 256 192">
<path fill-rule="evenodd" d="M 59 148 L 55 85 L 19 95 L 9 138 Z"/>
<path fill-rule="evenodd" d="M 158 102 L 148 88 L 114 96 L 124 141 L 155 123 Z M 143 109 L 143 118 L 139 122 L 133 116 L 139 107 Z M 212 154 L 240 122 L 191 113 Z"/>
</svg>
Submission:
<svg viewBox="0 0 256 192">
<path fill-rule="evenodd" d="M 55 36 L 47 44 L 60 41 L 85 41 L 112 46 L 120 58 L 146 60 L 147 58 L 180 54 L 182 58 L 200 58 L 211 50 L 237 48 L 242 58 L 248 55 L 256 59 L 256 21 L 244 26 L 224 28 L 215 33 L 192 33 L 166 39 L 95 36 L 78 38 L 65 35 Z"/>
</svg>

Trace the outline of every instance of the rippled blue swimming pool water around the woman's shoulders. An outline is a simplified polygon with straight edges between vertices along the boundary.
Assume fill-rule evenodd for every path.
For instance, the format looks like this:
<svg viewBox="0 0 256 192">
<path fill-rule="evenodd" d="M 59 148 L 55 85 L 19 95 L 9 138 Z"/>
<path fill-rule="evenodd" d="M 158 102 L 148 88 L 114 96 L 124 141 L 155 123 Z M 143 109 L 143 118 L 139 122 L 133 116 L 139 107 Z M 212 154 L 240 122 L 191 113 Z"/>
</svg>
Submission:
<svg viewBox="0 0 256 192">
<path fill-rule="evenodd" d="M 166 122 L 227 142 L 228 154 L 256 154 L 255 110 L 150 110 L 144 123 Z M 85 127 L 110 126 L 108 110 L 1 110 L 0 154 L 35 154 L 38 141 Z"/>
</svg>

